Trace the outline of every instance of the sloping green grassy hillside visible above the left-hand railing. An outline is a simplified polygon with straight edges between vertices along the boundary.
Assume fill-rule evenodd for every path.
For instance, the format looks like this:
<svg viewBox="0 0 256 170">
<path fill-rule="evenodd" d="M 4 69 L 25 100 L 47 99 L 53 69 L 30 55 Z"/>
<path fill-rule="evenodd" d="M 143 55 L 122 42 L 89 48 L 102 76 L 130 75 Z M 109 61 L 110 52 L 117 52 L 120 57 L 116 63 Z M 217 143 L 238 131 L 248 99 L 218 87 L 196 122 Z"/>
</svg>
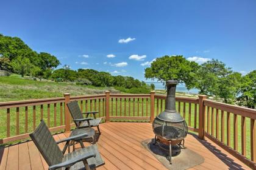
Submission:
<svg viewBox="0 0 256 170">
<path fill-rule="evenodd" d="M 103 94 L 105 90 L 119 92 L 113 87 L 93 87 L 71 83 L 34 81 L 18 76 L 0 77 L 0 102 L 63 97 L 63 94 L 66 92 L 71 95 Z"/>
</svg>

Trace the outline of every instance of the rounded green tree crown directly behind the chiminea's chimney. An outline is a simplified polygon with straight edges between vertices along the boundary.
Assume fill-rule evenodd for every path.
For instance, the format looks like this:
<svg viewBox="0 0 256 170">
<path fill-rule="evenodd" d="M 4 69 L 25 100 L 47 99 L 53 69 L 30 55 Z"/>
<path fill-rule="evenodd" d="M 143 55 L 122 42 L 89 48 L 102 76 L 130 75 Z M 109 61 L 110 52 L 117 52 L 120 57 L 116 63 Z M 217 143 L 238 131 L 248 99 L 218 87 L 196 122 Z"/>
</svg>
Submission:
<svg viewBox="0 0 256 170">
<path fill-rule="evenodd" d="M 166 55 L 157 58 L 151 63 L 151 67 L 145 69 L 145 77 L 152 80 L 156 78 L 162 83 L 167 80 L 177 80 L 179 83 L 185 83 L 186 87 L 190 89 L 194 86 L 193 78 L 198 67 L 197 63 L 186 60 L 182 55 Z"/>
</svg>

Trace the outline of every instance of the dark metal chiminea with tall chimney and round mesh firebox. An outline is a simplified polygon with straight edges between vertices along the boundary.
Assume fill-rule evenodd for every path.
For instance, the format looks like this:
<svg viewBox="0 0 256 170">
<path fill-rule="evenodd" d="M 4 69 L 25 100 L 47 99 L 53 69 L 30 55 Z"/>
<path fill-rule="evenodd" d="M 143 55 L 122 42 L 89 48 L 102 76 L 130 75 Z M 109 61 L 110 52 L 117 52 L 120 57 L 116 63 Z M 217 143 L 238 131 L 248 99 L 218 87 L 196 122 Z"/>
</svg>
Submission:
<svg viewBox="0 0 256 170">
<path fill-rule="evenodd" d="M 155 117 L 152 124 L 155 133 L 155 143 L 162 149 L 169 146 L 169 162 L 171 157 L 180 153 L 184 147 L 184 138 L 188 134 L 188 126 L 180 113 L 176 112 L 177 81 L 166 81 L 167 96 L 165 110 Z M 167 147 L 166 147 L 167 146 Z"/>
</svg>

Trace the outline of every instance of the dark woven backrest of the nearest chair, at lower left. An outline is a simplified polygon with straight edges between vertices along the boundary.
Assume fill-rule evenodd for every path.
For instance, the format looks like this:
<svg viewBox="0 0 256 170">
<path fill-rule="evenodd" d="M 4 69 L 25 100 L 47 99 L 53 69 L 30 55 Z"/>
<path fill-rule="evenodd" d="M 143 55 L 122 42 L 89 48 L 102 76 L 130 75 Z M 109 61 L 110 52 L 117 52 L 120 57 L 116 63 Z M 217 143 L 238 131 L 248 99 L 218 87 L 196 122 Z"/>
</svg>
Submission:
<svg viewBox="0 0 256 170">
<path fill-rule="evenodd" d="M 63 154 L 48 127 L 41 120 L 35 132 L 29 134 L 49 166 L 62 163 Z"/>
</svg>

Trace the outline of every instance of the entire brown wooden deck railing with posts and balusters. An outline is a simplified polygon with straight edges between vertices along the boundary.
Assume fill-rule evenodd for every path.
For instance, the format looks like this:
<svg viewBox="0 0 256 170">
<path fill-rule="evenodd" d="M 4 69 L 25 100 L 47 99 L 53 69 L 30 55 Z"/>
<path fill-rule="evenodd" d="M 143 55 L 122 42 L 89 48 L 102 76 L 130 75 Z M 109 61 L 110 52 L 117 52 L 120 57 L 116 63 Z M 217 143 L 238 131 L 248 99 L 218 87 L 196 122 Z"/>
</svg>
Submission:
<svg viewBox="0 0 256 170">
<path fill-rule="evenodd" d="M 78 101 L 82 112 L 98 110 L 103 121 L 152 121 L 165 109 L 164 95 L 105 94 L 0 103 L 0 143 L 29 138 L 44 119 L 51 131 L 70 131 L 74 126 L 66 103 Z M 176 97 L 176 110 L 190 131 L 210 138 L 227 152 L 256 168 L 256 110 L 199 98 Z"/>
</svg>

